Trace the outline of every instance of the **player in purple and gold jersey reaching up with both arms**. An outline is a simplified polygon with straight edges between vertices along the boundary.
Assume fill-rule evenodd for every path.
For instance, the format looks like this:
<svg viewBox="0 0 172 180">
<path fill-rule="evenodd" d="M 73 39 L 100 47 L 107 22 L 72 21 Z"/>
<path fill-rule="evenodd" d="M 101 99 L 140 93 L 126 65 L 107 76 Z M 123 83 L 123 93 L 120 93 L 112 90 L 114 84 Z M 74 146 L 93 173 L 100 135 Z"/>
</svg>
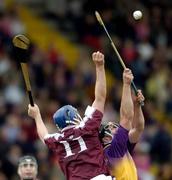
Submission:
<svg viewBox="0 0 172 180">
<path fill-rule="evenodd" d="M 137 180 L 137 171 L 131 153 L 144 129 L 144 116 L 140 101 L 144 96 L 138 90 L 137 97 L 131 95 L 132 72 L 123 72 L 123 91 L 119 124 L 109 122 L 102 126 L 100 138 L 109 160 L 111 175 L 117 180 Z"/>
</svg>

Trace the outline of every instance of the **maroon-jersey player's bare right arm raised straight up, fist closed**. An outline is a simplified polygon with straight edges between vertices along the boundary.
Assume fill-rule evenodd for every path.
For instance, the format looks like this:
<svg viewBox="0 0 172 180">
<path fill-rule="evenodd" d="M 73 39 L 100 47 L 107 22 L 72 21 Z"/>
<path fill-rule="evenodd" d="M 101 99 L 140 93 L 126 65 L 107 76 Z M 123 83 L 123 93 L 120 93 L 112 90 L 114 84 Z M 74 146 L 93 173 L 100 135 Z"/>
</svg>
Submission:
<svg viewBox="0 0 172 180">
<path fill-rule="evenodd" d="M 96 84 L 95 84 L 95 100 L 92 107 L 104 112 L 104 104 L 106 100 L 106 76 L 104 68 L 104 55 L 95 52 L 92 54 L 92 59 L 96 66 Z"/>
</svg>

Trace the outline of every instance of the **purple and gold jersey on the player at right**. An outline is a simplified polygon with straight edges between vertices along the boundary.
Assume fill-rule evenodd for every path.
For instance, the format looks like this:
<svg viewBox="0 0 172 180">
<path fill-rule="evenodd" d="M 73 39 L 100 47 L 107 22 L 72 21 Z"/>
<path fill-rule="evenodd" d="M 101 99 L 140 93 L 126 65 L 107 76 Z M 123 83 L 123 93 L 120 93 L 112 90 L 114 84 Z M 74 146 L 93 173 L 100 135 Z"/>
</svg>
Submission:
<svg viewBox="0 0 172 180">
<path fill-rule="evenodd" d="M 111 145 L 105 149 L 111 175 L 116 177 L 116 180 L 138 179 L 135 163 L 130 155 L 134 146 L 135 144 L 129 142 L 128 130 L 120 126 L 113 137 Z"/>
</svg>

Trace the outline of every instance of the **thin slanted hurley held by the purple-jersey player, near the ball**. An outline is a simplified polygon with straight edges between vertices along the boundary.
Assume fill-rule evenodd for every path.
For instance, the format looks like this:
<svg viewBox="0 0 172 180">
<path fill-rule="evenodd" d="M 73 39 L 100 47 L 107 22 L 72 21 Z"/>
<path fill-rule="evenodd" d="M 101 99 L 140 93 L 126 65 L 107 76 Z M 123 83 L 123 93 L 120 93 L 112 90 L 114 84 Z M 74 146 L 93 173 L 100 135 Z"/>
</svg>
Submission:
<svg viewBox="0 0 172 180">
<path fill-rule="evenodd" d="M 95 12 L 95 15 L 96 15 L 97 21 L 99 22 L 99 24 L 100 24 L 100 25 L 103 27 L 103 29 L 105 30 L 106 35 L 108 36 L 108 38 L 109 38 L 109 40 L 110 40 L 111 46 L 112 46 L 113 50 L 115 51 L 115 53 L 116 53 L 116 55 L 117 55 L 117 57 L 118 57 L 121 65 L 122 65 L 122 67 L 123 67 L 124 69 L 126 69 L 126 65 L 124 64 L 124 61 L 122 60 L 122 58 L 121 58 L 118 50 L 116 49 L 116 46 L 115 46 L 115 44 L 113 43 L 112 38 L 111 38 L 111 36 L 109 35 L 109 33 L 108 33 L 107 29 L 106 29 L 106 26 L 105 26 L 105 24 L 104 24 L 104 22 L 103 22 L 103 20 L 102 20 L 102 18 L 101 18 L 101 16 L 100 16 L 100 14 L 96 11 L 96 12 Z M 135 92 L 135 94 L 136 94 L 136 96 L 137 96 L 137 94 L 138 94 L 138 89 L 137 89 L 137 87 L 136 87 L 136 85 L 134 84 L 133 81 L 131 82 L 131 86 L 132 86 L 132 88 L 133 88 L 133 90 L 134 90 L 134 92 Z M 140 102 L 140 105 L 141 105 L 141 106 L 144 106 L 144 102 L 141 101 L 141 102 Z"/>
</svg>

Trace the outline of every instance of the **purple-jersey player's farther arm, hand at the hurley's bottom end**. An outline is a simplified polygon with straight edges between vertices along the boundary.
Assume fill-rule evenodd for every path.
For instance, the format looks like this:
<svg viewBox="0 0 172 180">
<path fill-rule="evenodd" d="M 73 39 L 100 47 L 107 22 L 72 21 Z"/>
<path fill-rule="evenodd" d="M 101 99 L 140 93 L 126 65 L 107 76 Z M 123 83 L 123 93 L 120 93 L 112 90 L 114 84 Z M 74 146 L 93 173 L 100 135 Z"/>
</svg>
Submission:
<svg viewBox="0 0 172 180">
<path fill-rule="evenodd" d="M 142 112 L 142 107 L 140 106 L 140 101 L 144 101 L 144 96 L 141 90 L 138 90 L 138 95 L 136 98 L 133 98 L 134 102 L 134 118 L 132 121 L 132 128 L 129 131 L 129 141 L 131 143 L 138 142 L 145 125 L 145 120 Z"/>
</svg>

